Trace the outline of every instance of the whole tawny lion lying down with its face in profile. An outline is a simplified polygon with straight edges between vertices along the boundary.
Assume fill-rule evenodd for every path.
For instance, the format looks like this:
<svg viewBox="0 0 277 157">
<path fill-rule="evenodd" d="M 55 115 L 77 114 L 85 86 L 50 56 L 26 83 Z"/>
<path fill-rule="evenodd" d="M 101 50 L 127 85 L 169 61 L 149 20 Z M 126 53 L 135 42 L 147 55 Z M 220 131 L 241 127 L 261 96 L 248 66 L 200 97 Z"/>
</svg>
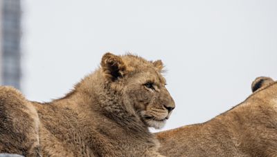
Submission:
<svg viewBox="0 0 277 157">
<path fill-rule="evenodd" d="M 148 127 L 175 108 L 163 63 L 107 53 L 98 70 L 49 103 L 0 87 L 0 152 L 24 156 L 162 156 Z"/>
</svg>

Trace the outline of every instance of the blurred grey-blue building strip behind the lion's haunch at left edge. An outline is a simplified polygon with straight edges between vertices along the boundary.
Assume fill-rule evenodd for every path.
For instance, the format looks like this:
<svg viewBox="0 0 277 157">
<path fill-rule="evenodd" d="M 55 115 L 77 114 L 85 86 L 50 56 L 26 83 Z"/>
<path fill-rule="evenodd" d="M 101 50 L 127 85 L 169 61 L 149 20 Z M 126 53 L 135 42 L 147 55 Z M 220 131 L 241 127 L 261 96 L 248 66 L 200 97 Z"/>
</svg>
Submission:
<svg viewBox="0 0 277 157">
<path fill-rule="evenodd" d="M 21 1 L 0 0 L 0 85 L 20 89 Z"/>
</svg>

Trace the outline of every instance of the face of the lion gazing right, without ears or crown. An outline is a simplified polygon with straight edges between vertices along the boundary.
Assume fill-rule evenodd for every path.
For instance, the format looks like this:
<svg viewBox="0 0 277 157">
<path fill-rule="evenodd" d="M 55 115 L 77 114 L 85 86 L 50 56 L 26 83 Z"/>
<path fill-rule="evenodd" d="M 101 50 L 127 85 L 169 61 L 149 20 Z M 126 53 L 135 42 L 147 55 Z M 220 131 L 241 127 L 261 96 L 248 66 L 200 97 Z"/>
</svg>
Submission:
<svg viewBox="0 0 277 157">
<path fill-rule="evenodd" d="M 161 74 L 154 71 L 134 74 L 126 83 L 125 96 L 132 101 L 141 120 L 149 127 L 163 127 L 175 108 L 165 85 Z"/>
</svg>

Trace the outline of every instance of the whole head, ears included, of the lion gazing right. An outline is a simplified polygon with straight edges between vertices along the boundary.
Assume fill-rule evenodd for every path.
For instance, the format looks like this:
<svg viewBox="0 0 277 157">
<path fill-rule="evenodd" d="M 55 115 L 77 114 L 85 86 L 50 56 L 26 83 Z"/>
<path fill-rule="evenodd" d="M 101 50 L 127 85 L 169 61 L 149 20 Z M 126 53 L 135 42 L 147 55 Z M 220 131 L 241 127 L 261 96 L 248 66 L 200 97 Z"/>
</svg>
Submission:
<svg viewBox="0 0 277 157">
<path fill-rule="evenodd" d="M 128 111 L 134 111 L 148 127 L 165 125 L 175 102 L 166 90 L 160 60 L 107 53 L 102 56 L 101 67 L 109 87 L 120 93 L 120 101 Z"/>
</svg>

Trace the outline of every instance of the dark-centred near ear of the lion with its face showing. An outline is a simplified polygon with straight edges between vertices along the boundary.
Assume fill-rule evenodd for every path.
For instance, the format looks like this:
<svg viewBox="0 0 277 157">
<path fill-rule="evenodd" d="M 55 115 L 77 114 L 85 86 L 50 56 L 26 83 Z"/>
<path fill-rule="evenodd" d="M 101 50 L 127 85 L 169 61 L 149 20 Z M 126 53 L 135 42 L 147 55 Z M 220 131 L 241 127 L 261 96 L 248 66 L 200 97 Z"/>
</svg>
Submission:
<svg viewBox="0 0 277 157">
<path fill-rule="evenodd" d="M 126 70 L 126 65 L 120 56 L 116 56 L 109 52 L 102 56 L 101 66 L 102 72 L 112 81 L 118 79 L 120 76 L 123 76 Z"/>
</svg>

